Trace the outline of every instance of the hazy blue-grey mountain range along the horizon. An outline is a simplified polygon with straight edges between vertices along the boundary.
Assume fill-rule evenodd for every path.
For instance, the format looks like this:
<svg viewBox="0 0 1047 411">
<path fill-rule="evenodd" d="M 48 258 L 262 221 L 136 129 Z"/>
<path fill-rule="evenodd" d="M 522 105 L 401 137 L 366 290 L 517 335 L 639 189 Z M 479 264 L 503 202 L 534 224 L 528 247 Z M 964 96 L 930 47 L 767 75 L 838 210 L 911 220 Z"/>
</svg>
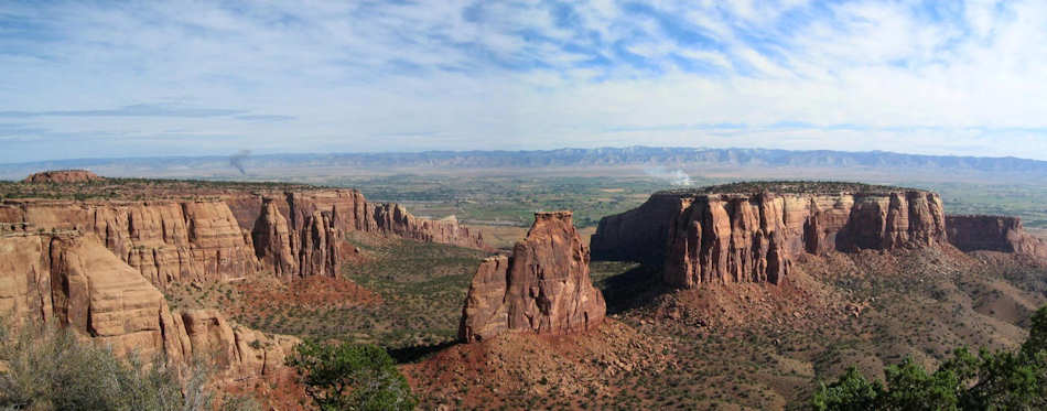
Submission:
<svg viewBox="0 0 1047 411">
<path fill-rule="evenodd" d="M 768 149 L 600 148 L 539 151 L 424 151 L 413 153 L 265 154 L 80 159 L 0 164 L 0 179 L 18 180 L 55 169 L 89 169 L 114 176 L 196 175 L 199 171 L 249 173 L 302 167 L 348 169 L 532 169 L 570 166 L 812 167 L 932 172 L 1007 173 L 1047 176 L 1047 161 L 1017 158 L 902 154 L 885 151 L 792 151 Z"/>
</svg>

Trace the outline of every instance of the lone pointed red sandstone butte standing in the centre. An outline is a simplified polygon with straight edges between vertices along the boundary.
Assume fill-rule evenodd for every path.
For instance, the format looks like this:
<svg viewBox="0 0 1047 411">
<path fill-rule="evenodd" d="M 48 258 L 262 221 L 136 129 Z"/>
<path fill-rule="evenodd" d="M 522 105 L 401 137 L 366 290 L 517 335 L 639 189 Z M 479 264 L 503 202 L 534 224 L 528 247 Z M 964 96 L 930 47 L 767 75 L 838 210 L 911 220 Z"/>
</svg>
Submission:
<svg viewBox="0 0 1047 411">
<path fill-rule="evenodd" d="M 458 338 L 471 343 L 505 332 L 566 334 L 600 324 L 606 303 L 589 277 L 589 259 L 571 212 L 536 213 L 511 256 L 487 258 L 476 270 Z"/>
</svg>

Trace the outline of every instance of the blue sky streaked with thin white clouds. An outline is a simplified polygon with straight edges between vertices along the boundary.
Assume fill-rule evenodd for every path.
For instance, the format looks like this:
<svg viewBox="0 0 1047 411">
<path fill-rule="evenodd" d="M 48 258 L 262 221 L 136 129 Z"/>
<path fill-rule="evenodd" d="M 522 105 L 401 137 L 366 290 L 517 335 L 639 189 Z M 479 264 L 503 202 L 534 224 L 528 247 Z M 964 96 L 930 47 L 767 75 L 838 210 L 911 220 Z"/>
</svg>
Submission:
<svg viewBox="0 0 1047 411">
<path fill-rule="evenodd" d="M 1047 2 L 3 1 L 0 162 L 564 147 L 1047 160 Z"/>
</svg>

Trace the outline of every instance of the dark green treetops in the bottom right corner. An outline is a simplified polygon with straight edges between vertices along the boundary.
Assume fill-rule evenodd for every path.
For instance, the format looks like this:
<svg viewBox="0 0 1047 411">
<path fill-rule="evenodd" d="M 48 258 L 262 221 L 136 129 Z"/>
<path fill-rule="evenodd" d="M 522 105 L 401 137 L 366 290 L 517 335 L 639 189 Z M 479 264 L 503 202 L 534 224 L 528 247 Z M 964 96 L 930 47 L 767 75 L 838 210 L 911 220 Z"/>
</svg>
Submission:
<svg viewBox="0 0 1047 411">
<path fill-rule="evenodd" d="M 909 358 L 884 370 L 886 383 L 849 368 L 822 385 L 816 410 L 1043 410 L 1047 409 L 1047 306 L 1032 318 L 1029 337 L 1016 351 L 978 355 L 958 348 L 933 372 Z"/>
</svg>

